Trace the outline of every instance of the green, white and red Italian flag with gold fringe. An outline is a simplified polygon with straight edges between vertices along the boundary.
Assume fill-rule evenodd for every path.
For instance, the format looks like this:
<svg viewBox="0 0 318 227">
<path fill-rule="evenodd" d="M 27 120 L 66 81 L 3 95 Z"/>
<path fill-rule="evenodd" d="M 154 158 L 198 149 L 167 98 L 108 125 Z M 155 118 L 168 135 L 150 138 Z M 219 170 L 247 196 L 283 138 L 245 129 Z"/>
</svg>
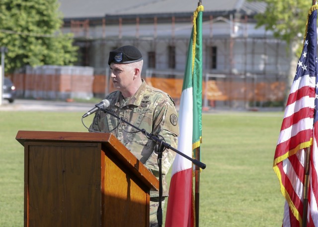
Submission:
<svg viewBox="0 0 318 227">
<path fill-rule="evenodd" d="M 184 73 L 180 109 L 178 151 L 195 158 L 202 132 L 202 12 L 199 5 L 193 13 L 187 65 Z M 172 164 L 165 227 L 193 227 L 194 196 L 192 162 L 177 154 Z"/>
</svg>

